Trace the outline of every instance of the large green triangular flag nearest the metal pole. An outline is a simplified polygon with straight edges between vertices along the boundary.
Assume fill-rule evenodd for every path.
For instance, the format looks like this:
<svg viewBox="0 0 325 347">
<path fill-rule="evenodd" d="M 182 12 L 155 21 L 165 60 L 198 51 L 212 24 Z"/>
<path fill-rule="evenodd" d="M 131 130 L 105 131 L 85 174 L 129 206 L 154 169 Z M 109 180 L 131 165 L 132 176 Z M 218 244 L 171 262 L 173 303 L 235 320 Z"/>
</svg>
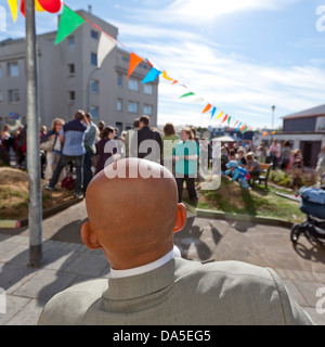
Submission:
<svg viewBox="0 0 325 347">
<path fill-rule="evenodd" d="M 64 5 L 54 44 L 63 41 L 84 22 L 86 20 L 83 20 L 79 14 Z"/>
</svg>

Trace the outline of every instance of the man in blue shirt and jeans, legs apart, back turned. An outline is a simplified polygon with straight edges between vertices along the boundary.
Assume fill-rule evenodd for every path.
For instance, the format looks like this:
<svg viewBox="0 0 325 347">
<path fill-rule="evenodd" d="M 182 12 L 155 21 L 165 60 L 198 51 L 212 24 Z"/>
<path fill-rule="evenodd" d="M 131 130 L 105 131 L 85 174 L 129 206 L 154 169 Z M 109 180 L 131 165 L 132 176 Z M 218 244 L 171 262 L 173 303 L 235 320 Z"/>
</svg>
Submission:
<svg viewBox="0 0 325 347">
<path fill-rule="evenodd" d="M 82 110 L 76 112 L 74 119 L 66 123 L 61 132 L 60 140 L 64 143 L 62 154 L 57 166 L 53 172 L 53 176 L 49 184 L 46 184 L 46 189 L 53 191 L 55 184 L 58 181 L 61 171 L 69 162 L 74 162 L 76 166 L 76 183 L 75 183 L 75 197 L 82 198 L 82 168 L 83 168 L 83 156 L 84 150 L 84 134 L 88 131 L 88 120 L 86 113 Z"/>
</svg>

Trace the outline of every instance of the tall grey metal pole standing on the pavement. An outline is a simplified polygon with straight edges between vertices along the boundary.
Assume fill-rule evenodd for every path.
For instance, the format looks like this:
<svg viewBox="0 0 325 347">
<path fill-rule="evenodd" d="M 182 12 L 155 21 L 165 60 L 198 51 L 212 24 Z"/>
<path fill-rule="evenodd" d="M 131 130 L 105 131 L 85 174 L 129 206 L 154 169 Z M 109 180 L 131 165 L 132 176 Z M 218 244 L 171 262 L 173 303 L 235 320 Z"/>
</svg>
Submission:
<svg viewBox="0 0 325 347">
<path fill-rule="evenodd" d="M 35 0 L 25 0 L 29 266 L 42 264 L 42 194 L 37 107 Z"/>
</svg>

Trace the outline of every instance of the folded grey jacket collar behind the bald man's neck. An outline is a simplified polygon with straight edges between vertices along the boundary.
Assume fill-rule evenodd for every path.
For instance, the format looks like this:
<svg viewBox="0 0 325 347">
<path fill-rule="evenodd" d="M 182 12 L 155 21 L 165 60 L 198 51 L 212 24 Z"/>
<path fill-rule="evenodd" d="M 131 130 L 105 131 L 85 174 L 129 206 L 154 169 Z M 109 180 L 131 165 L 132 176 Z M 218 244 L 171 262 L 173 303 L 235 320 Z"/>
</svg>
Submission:
<svg viewBox="0 0 325 347">
<path fill-rule="evenodd" d="M 142 297 L 167 287 L 174 281 L 176 260 L 171 259 L 153 271 L 122 279 L 108 279 L 103 297 L 112 300 Z"/>
</svg>

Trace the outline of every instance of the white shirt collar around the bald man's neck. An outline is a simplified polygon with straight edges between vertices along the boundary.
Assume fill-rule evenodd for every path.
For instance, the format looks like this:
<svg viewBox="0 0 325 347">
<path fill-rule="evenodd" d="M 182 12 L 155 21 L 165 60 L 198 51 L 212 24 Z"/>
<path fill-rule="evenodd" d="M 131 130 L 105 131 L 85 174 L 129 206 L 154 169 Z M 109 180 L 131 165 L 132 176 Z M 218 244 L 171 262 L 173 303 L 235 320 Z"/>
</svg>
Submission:
<svg viewBox="0 0 325 347">
<path fill-rule="evenodd" d="M 169 260 L 171 260 L 174 257 L 181 257 L 181 252 L 177 246 L 173 246 L 173 249 L 171 249 L 169 253 L 167 253 L 164 257 L 159 258 L 158 260 L 155 260 L 153 262 L 143 265 L 142 267 L 133 268 L 133 269 L 127 269 L 127 270 L 114 270 L 110 269 L 110 272 L 108 274 L 109 279 L 122 279 L 131 275 L 136 275 L 141 273 L 145 273 L 148 271 L 153 271 L 155 269 L 158 269 Z"/>
</svg>

